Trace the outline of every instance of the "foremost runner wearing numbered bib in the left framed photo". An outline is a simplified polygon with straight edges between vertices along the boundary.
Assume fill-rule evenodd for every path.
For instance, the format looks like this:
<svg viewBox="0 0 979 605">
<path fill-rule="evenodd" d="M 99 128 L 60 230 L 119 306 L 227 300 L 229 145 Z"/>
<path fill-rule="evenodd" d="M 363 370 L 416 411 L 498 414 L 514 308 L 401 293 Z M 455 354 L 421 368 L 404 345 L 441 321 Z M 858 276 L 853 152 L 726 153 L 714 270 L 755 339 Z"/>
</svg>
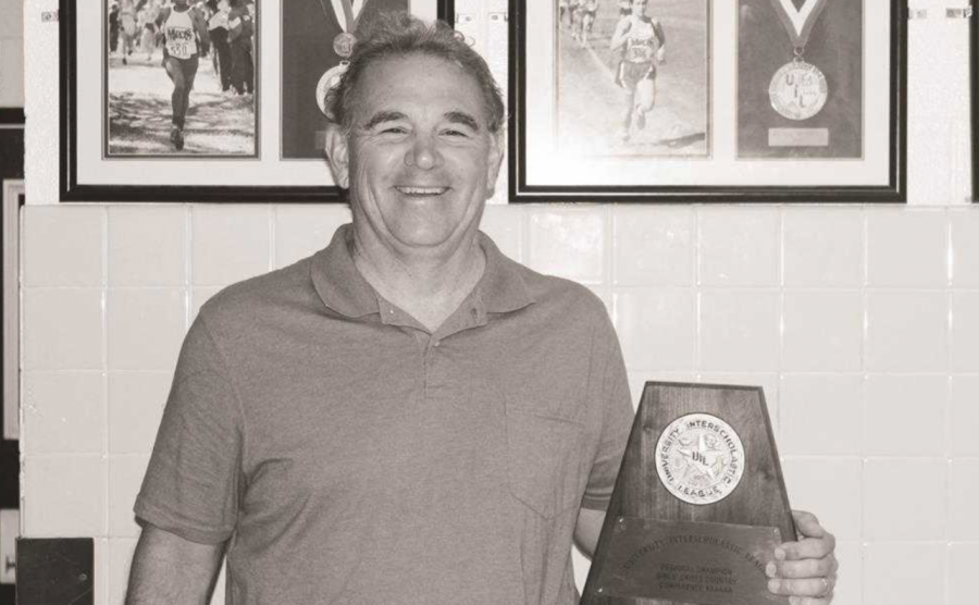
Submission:
<svg viewBox="0 0 979 605">
<path fill-rule="evenodd" d="M 170 143 L 174 149 L 182 151 L 190 90 L 194 89 L 200 55 L 207 53 L 210 37 L 205 18 L 190 8 L 187 0 L 174 0 L 172 8 L 160 13 L 160 20 L 163 23 L 163 69 L 173 82 Z"/>
</svg>

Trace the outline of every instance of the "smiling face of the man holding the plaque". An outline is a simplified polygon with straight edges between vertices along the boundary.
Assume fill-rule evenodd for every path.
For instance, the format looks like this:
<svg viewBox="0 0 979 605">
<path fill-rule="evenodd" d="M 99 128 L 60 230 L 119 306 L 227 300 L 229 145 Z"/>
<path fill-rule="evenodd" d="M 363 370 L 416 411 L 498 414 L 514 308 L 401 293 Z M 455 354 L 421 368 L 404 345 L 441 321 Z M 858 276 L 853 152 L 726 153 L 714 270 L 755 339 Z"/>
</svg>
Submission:
<svg viewBox="0 0 979 605">
<path fill-rule="evenodd" d="M 500 161 L 475 79 L 439 58 L 385 59 L 364 72 L 356 101 L 358 235 L 400 252 L 458 249 L 479 227 Z"/>
</svg>

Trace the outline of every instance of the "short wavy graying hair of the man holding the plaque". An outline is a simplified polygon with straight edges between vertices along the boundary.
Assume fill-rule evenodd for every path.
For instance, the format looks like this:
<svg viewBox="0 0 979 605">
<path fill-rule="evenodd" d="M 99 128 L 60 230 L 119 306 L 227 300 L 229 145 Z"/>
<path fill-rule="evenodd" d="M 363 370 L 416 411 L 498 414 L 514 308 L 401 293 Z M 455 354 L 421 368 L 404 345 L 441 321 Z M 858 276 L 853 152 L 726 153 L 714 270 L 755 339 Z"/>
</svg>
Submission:
<svg viewBox="0 0 979 605">
<path fill-rule="evenodd" d="M 365 32 L 358 32 L 350 65 L 339 83 L 326 91 L 327 114 L 349 129 L 354 119 L 351 108 L 357 103 L 364 72 L 377 61 L 411 54 L 451 61 L 472 75 L 483 95 L 487 127 L 493 134 L 499 132 L 505 118 L 503 95 L 486 61 L 466 44 L 462 34 L 447 23 L 436 21 L 429 24 L 406 12 L 379 15 Z"/>
</svg>

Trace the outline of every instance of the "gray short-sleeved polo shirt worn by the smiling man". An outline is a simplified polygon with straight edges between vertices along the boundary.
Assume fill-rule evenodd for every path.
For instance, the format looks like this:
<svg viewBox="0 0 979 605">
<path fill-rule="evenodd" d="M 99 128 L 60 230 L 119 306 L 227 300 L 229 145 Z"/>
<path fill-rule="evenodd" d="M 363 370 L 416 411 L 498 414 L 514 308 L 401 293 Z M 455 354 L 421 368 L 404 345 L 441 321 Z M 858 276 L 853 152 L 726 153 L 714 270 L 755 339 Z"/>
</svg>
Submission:
<svg viewBox="0 0 979 605">
<path fill-rule="evenodd" d="M 578 603 L 578 511 L 607 506 L 633 415 L 604 306 L 481 234 L 430 334 L 350 238 L 203 306 L 136 515 L 230 541 L 236 605 Z"/>
</svg>

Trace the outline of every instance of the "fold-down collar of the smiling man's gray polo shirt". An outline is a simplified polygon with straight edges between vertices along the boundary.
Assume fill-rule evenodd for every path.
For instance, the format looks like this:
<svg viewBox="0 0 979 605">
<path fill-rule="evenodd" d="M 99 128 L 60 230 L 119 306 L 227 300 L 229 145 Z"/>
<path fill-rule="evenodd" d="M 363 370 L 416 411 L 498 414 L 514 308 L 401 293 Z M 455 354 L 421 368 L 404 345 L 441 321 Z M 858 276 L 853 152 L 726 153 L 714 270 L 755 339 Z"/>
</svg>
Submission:
<svg viewBox="0 0 979 605">
<path fill-rule="evenodd" d="M 523 281 L 523 268 L 510 260 L 485 233 L 479 233 L 480 247 L 486 256 L 483 276 L 467 300 L 473 300 L 484 312 L 505 313 L 534 302 Z M 363 279 L 354 264 L 354 225 L 336 230 L 326 248 L 317 252 L 310 266 L 313 287 L 327 307 L 349 317 L 380 313 L 386 301 Z M 482 313 L 481 313 L 482 314 Z"/>
</svg>

